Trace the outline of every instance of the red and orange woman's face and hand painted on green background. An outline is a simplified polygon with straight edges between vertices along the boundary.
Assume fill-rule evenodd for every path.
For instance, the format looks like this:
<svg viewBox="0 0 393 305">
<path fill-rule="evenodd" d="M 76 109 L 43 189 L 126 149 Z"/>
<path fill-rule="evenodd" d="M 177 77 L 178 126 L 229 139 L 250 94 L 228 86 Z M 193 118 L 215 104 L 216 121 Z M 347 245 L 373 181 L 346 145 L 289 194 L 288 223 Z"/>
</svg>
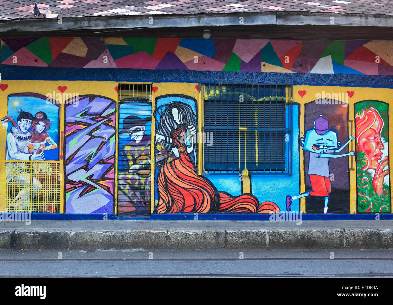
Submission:
<svg viewBox="0 0 393 305">
<path fill-rule="evenodd" d="M 364 152 L 366 163 L 361 168 L 375 170 L 372 186 L 378 196 L 382 194 L 384 177 L 389 174 L 389 169 L 384 170 L 388 165 L 388 156 L 381 162 L 381 156 L 384 144 L 381 140 L 381 131 L 384 127 L 384 121 L 378 111 L 373 107 L 362 109 L 360 115 L 355 117 L 356 120 L 356 142 L 358 152 Z"/>
</svg>

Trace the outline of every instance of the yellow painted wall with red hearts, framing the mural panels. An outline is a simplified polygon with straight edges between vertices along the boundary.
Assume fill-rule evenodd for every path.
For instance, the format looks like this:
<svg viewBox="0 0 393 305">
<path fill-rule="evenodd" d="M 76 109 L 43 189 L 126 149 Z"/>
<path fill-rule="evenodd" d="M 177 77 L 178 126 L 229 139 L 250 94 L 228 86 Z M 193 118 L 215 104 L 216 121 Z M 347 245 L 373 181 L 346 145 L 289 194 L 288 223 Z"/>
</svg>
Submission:
<svg viewBox="0 0 393 305">
<path fill-rule="evenodd" d="M 135 84 L 136 82 L 132 82 Z M 79 96 L 83 94 L 98 94 L 105 96 L 107 98 L 111 98 L 113 100 L 118 100 L 118 93 L 115 90 L 115 87 L 118 86 L 117 82 L 108 82 L 108 81 L 35 81 L 35 80 L 3 80 L 2 84 L 7 84 L 8 87 L 5 91 L 0 91 L 0 116 L 7 115 L 7 96 L 13 93 L 38 93 L 42 95 L 46 95 L 47 93 L 60 93 L 57 87 L 66 86 L 67 89 L 65 93 L 74 93 L 79 94 Z M 158 96 L 165 94 L 184 94 L 195 98 L 198 101 L 197 109 L 198 109 L 198 132 L 201 132 L 201 127 L 203 124 L 203 107 L 202 107 L 202 98 L 200 97 L 199 84 L 198 83 L 153 83 L 153 105 L 152 112 L 154 112 L 155 100 Z M 298 91 L 306 91 L 306 94 L 301 97 L 298 94 Z M 379 100 L 383 102 L 389 103 L 389 126 L 393 126 L 393 110 L 392 110 L 392 96 L 393 89 L 384 89 L 384 88 L 359 88 L 359 87 L 338 87 L 338 86 L 303 86 L 297 85 L 293 86 L 293 102 L 300 104 L 300 131 L 304 133 L 304 109 L 305 103 L 312 102 L 316 99 L 317 93 L 322 93 L 322 91 L 326 93 L 346 93 L 347 91 L 353 91 L 354 95 L 352 98 L 348 98 L 349 102 L 349 120 L 354 121 L 354 103 L 360 102 L 363 100 Z M 38 110 L 37 110 L 38 111 Z M 61 105 L 62 118 L 64 117 L 64 105 Z M 152 113 L 153 114 L 153 113 Z M 61 129 L 64 128 L 62 124 L 60 124 Z M 154 117 L 152 116 L 152 126 L 155 126 Z M 353 130 L 349 131 L 349 134 L 355 134 L 354 131 L 354 123 L 352 125 Z M 350 125 L 349 125 L 350 128 Z M 0 149 L 0 160 L 5 160 L 6 158 L 6 136 L 7 131 L 5 129 L 1 129 L 0 131 L 0 141 L 2 143 L 2 149 Z M 152 141 L 154 141 L 154 128 L 152 128 Z M 393 143 L 393 132 L 389 133 L 389 142 Z M 351 145 L 351 144 L 350 144 Z M 354 144 L 353 144 L 354 145 Z M 154 147 L 154 145 L 152 145 Z M 349 146 L 351 150 L 354 150 L 354 147 Z M 202 169 L 203 162 L 203 153 L 201 151 L 202 144 L 199 143 L 199 173 Z M 297 149 L 294 147 L 293 149 Z M 154 152 L 152 152 L 153 156 Z M 354 157 L 351 157 L 354 159 Z M 117 158 L 116 158 L 117 162 Z M 303 167 L 303 153 L 300 153 L 300 192 L 305 191 L 305 172 Z M 389 156 L 389 163 L 393 164 L 393 154 Z M 354 161 L 355 164 L 355 161 Z M 294 165 L 294 169 L 296 170 L 296 164 Z M 0 211 L 5 211 L 6 209 L 6 181 L 5 181 L 5 163 L 0 162 L 0 172 L 2 173 L 0 176 Z M 152 158 L 152 177 L 154 177 L 154 158 Z M 350 195 L 350 211 L 351 213 L 356 213 L 356 171 L 350 171 L 350 185 L 351 185 L 351 195 Z M 117 194 L 117 189 L 115 191 Z M 152 204 L 151 209 L 153 211 L 154 208 L 154 181 L 152 181 Z M 391 188 L 391 195 L 393 198 L 393 188 Z M 116 196 L 115 196 L 116 197 Z M 301 198 L 300 201 L 300 209 L 305 212 L 305 198 Z"/>
</svg>

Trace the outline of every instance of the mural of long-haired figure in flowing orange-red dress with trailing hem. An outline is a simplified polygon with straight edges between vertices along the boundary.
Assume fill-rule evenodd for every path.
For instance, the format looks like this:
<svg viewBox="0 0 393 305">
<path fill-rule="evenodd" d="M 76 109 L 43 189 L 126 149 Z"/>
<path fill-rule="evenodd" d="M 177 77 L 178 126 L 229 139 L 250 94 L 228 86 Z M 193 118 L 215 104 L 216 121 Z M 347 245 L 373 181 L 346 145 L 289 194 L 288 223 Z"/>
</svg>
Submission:
<svg viewBox="0 0 393 305">
<path fill-rule="evenodd" d="M 155 164 L 157 213 L 269 213 L 274 203 L 259 204 L 252 194 L 231 196 L 197 174 L 196 100 L 174 94 L 156 98 Z M 224 148 L 223 148 L 224 149 Z"/>
</svg>

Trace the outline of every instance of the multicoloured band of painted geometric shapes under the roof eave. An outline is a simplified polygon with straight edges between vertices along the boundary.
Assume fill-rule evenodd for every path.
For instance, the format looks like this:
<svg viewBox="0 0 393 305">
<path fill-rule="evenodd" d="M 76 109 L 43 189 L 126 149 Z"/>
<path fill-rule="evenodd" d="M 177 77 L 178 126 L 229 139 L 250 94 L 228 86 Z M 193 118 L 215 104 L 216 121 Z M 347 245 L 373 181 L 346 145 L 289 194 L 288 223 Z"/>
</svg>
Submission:
<svg viewBox="0 0 393 305">
<path fill-rule="evenodd" d="M 4 38 L 1 64 L 35 67 L 392 75 L 389 40 Z"/>
</svg>

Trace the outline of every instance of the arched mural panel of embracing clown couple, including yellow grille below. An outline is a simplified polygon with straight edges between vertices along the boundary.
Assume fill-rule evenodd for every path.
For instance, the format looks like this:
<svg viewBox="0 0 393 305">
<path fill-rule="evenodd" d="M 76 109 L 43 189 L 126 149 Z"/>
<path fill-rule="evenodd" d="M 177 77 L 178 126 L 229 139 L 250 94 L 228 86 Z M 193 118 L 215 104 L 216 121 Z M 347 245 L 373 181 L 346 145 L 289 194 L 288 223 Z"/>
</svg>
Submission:
<svg viewBox="0 0 393 305">
<path fill-rule="evenodd" d="M 44 111 L 36 112 L 37 109 Z M 8 211 L 60 212 L 59 162 L 48 162 L 59 160 L 59 107 L 47 103 L 46 97 L 39 94 L 12 94 L 8 99 L 8 114 L 2 118 L 3 128 L 8 130 Z"/>
</svg>

